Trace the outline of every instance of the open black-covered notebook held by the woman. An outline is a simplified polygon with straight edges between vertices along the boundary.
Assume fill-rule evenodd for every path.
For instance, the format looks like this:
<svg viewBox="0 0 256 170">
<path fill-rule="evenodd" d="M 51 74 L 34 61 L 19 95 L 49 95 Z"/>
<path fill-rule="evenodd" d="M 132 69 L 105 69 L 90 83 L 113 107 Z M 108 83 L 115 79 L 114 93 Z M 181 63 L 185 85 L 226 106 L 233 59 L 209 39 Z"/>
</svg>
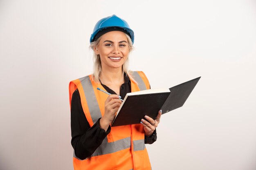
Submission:
<svg viewBox="0 0 256 170">
<path fill-rule="evenodd" d="M 162 114 L 182 107 L 200 77 L 169 89 L 148 89 L 127 93 L 111 126 L 138 124 L 144 116 L 155 119 L 158 111 Z"/>
</svg>

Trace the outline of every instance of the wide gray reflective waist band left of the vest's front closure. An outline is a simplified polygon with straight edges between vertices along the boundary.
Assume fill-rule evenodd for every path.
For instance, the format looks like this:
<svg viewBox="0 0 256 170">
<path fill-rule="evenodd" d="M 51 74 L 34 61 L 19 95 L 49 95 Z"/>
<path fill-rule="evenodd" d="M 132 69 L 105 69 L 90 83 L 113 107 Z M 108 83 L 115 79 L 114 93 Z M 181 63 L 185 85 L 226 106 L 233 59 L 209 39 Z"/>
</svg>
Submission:
<svg viewBox="0 0 256 170">
<path fill-rule="evenodd" d="M 115 153 L 119 150 L 124 150 L 131 147 L 131 138 L 126 137 L 124 139 L 117 140 L 115 142 L 109 142 L 105 144 L 101 144 L 95 152 L 91 155 L 91 157 L 105 155 L 109 153 Z"/>
</svg>

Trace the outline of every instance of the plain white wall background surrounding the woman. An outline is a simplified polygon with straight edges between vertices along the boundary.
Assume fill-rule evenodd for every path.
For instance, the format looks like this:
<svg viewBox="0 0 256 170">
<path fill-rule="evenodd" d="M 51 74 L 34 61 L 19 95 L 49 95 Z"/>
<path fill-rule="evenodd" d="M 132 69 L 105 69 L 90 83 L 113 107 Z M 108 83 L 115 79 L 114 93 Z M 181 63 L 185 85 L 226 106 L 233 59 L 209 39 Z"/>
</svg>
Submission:
<svg viewBox="0 0 256 170">
<path fill-rule="evenodd" d="M 255 170 L 255 0 L 0 0 L 0 169 L 73 168 L 68 83 L 92 73 L 90 35 L 112 14 L 151 88 L 202 76 L 162 116 L 152 168 Z"/>
</svg>

